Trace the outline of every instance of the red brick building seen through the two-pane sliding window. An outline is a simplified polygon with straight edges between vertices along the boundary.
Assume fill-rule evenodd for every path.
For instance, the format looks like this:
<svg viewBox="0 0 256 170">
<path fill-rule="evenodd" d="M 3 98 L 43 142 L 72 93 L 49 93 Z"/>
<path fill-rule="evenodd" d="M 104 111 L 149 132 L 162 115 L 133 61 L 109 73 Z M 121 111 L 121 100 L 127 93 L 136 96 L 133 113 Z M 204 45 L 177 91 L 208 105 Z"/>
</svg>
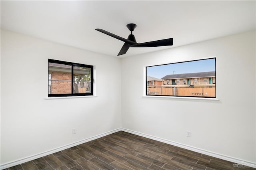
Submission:
<svg viewBox="0 0 256 170">
<path fill-rule="evenodd" d="M 80 67 L 74 67 L 74 76 L 88 75 L 89 71 Z M 71 93 L 71 65 L 49 63 L 48 65 L 48 94 Z M 82 85 L 76 82 L 79 93 L 85 93 L 86 83 Z"/>
</svg>

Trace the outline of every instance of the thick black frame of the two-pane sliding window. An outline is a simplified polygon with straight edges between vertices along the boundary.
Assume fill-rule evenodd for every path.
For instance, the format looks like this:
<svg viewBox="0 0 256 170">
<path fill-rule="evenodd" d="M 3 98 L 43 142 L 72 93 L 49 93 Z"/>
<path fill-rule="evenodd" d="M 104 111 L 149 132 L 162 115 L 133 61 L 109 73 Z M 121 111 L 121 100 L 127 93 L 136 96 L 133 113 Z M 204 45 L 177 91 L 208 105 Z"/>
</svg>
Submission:
<svg viewBox="0 0 256 170">
<path fill-rule="evenodd" d="M 86 64 L 80 64 L 80 63 L 72 63 L 68 61 L 60 61 L 56 59 L 48 59 L 48 75 L 49 75 L 49 63 L 58 63 L 58 64 L 65 64 L 65 65 L 71 65 L 71 93 L 67 94 L 49 94 L 48 97 L 70 97 L 70 96 L 92 96 L 93 95 L 93 65 L 86 65 Z M 74 93 L 74 66 L 76 67 L 87 67 L 91 69 L 91 93 Z M 48 79 L 48 76 L 47 76 Z M 48 86 L 49 86 L 49 79 L 48 79 Z M 47 88 L 48 90 L 48 88 Z M 48 91 L 47 91 L 48 92 Z"/>
</svg>

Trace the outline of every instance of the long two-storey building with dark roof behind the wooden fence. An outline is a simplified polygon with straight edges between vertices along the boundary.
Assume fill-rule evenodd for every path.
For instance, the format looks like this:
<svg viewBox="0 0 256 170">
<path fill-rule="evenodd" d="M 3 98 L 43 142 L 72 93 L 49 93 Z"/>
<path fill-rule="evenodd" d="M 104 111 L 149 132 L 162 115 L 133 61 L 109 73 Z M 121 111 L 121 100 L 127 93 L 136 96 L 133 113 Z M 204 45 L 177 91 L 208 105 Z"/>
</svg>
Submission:
<svg viewBox="0 0 256 170">
<path fill-rule="evenodd" d="M 174 86 L 215 86 L 215 71 L 199 73 L 170 74 L 162 77 L 163 85 Z"/>
</svg>

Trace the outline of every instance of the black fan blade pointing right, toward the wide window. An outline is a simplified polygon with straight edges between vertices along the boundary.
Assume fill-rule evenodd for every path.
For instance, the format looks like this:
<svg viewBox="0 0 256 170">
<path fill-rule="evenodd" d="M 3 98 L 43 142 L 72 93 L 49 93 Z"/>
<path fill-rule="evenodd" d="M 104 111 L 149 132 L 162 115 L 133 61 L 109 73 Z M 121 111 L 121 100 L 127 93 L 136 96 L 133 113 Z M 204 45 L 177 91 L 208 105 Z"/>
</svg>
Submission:
<svg viewBox="0 0 256 170">
<path fill-rule="evenodd" d="M 132 44 L 131 47 L 160 47 L 160 46 L 167 46 L 167 45 L 173 45 L 172 38 L 168 38 L 164 40 L 156 40 L 153 42 Z"/>
</svg>

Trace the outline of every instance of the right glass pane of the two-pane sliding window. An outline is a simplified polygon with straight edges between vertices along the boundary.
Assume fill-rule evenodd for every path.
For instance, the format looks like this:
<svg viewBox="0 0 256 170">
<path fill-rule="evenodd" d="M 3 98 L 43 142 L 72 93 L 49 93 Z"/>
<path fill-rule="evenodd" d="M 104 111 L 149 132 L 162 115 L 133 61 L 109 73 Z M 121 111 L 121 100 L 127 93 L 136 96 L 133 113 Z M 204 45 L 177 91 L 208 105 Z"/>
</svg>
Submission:
<svg viewBox="0 0 256 170">
<path fill-rule="evenodd" d="M 91 68 L 74 66 L 74 93 L 92 93 Z"/>
</svg>

